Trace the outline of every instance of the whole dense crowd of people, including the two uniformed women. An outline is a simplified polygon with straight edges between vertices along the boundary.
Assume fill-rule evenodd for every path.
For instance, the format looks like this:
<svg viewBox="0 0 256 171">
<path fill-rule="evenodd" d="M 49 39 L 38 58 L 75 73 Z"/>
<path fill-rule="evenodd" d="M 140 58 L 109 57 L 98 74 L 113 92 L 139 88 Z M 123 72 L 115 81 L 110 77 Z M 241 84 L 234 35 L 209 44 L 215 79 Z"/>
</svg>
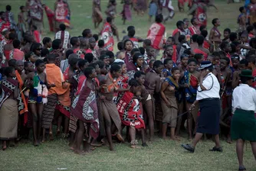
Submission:
<svg viewBox="0 0 256 171">
<path fill-rule="evenodd" d="M 143 11 L 139 2 L 144 1 L 137 0 L 138 13 Z M 130 1 L 123 3 L 125 21 L 128 13 L 131 16 Z M 68 138 L 78 154 L 102 145 L 114 150 L 113 141 L 138 148 L 138 132 L 143 147 L 156 132 L 165 140 L 180 140 L 185 130 L 189 140 L 194 138 L 191 145 L 182 144 L 190 152 L 204 134 L 214 135 L 212 151 L 222 152 L 220 133 L 228 143 L 237 140 L 239 169 L 245 170 L 245 140 L 251 142 L 256 158 L 256 3 L 251 0 L 239 8 L 238 30 L 226 28 L 222 38 L 221 21 L 213 19 L 208 32 L 206 14 L 200 13 L 213 4 L 189 2 L 192 19 L 178 21 L 166 38 L 163 23 L 174 15 L 169 3 L 162 2 L 159 11 L 159 1 L 150 2 L 149 14 L 156 17 L 145 39 L 136 37 L 136 27 L 129 26 L 123 40 L 113 24 L 115 0 L 109 1 L 104 21 L 100 0 L 93 1 L 94 26 L 104 22 L 100 39 L 89 28 L 71 37 L 66 30 L 71 14 L 67 1 L 57 0 L 55 13 L 50 12 L 53 40 L 41 39 L 43 7 L 51 11 L 41 1 L 28 0 L 21 6 L 18 24 L 7 5 L 0 12 L 2 150 L 11 140 L 28 138 L 30 130 L 34 146 L 53 140 L 53 125 L 56 136 Z M 113 35 L 119 41 L 117 53 Z"/>
</svg>

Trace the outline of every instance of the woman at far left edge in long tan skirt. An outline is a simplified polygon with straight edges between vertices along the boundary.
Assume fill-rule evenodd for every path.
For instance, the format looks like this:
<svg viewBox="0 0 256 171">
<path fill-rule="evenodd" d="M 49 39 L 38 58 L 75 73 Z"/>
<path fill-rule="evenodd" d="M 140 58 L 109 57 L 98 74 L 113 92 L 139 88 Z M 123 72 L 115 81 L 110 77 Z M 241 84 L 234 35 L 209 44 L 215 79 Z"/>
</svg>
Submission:
<svg viewBox="0 0 256 171">
<path fill-rule="evenodd" d="M 14 140 L 18 131 L 18 81 L 13 79 L 15 69 L 12 67 L 5 68 L 6 79 L 1 82 L 1 94 L 3 97 L 0 101 L 0 140 L 2 140 L 2 150 L 7 148 L 7 140 Z M 3 91 L 3 92 L 2 92 Z"/>
</svg>

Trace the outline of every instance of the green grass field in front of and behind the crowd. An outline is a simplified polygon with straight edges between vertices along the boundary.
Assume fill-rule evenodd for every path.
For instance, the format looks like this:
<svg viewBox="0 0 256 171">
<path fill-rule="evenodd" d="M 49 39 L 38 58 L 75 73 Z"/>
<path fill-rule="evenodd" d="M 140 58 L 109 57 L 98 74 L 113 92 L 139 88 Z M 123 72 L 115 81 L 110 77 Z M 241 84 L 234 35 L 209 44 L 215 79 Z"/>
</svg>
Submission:
<svg viewBox="0 0 256 171">
<path fill-rule="evenodd" d="M 53 8 L 54 0 L 42 0 L 46 5 Z M 91 28 L 94 34 L 100 30 L 95 30 L 91 19 L 91 0 L 68 0 L 71 5 L 71 24 L 73 29 L 71 35 L 81 35 L 84 28 Z M 220 31 L 226 27 L 231 31 L 236 31 L 238 8 L 242 4 L 227 5 L 224 0 L 215 1 L 218 11 L 214 8 L 208 10 L 208 29 L 212 27 L 212 18 L 220 18 L 222 26 Z M 1 11 L 5 10 L 5 5 L 12 6 L 12 12 L 15 19 L 19 12 L 19 6 L 25 5 L 25 0 L 2 0 L 0 1 Z M 173 2 L 177 9 L 177 2 Z M 103 11 L 106 9 L 107 1 L 102 2 Z M 118 0 L 117 11 L 120 12 L 122 6 Z M 186 9 L 187 10 L 187 9 Z M 167 36 L 172 34 L 176 28 L 176 21 L 183 18 L 191 18 L 185 13 L 176 12 L 172 21 L 166 23 Z M 115 21 L 120 31 L 126 30 L 128 25 L 136 26 L 136 35 L 146 37 L 150 23 L 148 16 L 136 16 L 133 13 L 133 21 L 127 21 L 122 25 L 121 18 Z M 44 15 L 44 34 L 43 36 L 54 37 L 54 34 L 48 31 L 48 21 Z M 184 137 L 185 134 L 184 134 Z M 153 144 L 142 149 L 130 149 L 129 144 L 115 144 L 116 152 L 110 152 L 108 147 L 99 147 L 90 155 L 78 156 L 74 154 L 67 146 L 68 142 L 62 139 L 56 139 L 51 142 L 41 144 L 40 147 L 33 147 L 32 141 L 28 144 L 18 144 L 18 147 L 10 147 L 8 150 L 0 151 L 0 170 L 58 170 L 57 168 L 66 168 L 67 170 L 191 170 L 191 171 L 220 171 L 220 170 L 238 170 L 238 161 L 235 153 L 235 143 L 226 144 L 222 140 L 223 153 L 212 153 L 208 149 L 214 146 L 210 140 L 200 142 L 195 153 L 187 153 L 180 147 L 182 143 L 189 143 L 185 138 L 181 142 L 171 140 L 162 140 L 156 137 Z M 140 143 L 140 140 L 139 140 Z M 256 170 L 254 156 L 251 153 L 251 145 L 245 146 L 245 166 L 249 171 Z"/>
</svg>

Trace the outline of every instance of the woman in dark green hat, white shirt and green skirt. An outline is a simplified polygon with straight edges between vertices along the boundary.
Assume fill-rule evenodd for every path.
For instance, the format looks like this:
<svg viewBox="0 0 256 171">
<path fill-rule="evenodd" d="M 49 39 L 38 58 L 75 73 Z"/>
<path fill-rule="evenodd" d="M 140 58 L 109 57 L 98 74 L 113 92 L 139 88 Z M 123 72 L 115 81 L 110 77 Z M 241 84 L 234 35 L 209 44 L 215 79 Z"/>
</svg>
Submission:
<svg viewBox="0 0 256 171">
<path fill-rule="evenodd" d="M 235 109 L 231 120 L 231 138 L 236 140 L 236 152 L 238 156 L 239 170 L 246 170 L 243 162 L 245 140 L 251 143 L 251 150 L 256 158 L 255 117 L 256 91 L 251 86 L 251 70 L 242 70 L 241 84 L 234 89 L 232 108 Z"/>
</svg>

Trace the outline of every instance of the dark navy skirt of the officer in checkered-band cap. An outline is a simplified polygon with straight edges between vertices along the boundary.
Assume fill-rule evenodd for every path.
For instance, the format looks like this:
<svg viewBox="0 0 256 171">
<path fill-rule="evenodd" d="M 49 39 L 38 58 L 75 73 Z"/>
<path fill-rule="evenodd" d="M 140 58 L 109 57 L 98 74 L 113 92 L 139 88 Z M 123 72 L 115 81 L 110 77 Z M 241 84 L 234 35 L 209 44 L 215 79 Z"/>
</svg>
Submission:
<svg viewBox="0 0 256 171">
<path fill-rule="evenodd" d="M 219 98 L 199 100 L 200 116 L 196 132 L 202 134 L 218 134 L 221 103 Z"/>
</svg>

